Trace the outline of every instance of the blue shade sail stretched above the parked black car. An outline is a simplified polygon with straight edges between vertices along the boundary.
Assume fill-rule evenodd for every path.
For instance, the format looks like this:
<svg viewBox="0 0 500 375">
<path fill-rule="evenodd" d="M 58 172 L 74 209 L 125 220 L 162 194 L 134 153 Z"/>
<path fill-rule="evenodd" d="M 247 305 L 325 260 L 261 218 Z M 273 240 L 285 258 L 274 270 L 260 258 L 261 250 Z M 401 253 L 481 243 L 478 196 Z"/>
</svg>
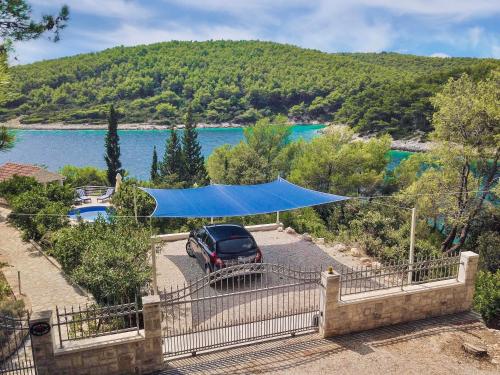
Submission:
<svg viewBox="0 0 500 375">
<path fill-rule="evenodd" d="M 141 188 L 156 201 L 153 217 L 230 217 L 267 214 L 349 199 L 282 178 L 259 185 L 210 185 L 190 189 Z"/>
</svg>

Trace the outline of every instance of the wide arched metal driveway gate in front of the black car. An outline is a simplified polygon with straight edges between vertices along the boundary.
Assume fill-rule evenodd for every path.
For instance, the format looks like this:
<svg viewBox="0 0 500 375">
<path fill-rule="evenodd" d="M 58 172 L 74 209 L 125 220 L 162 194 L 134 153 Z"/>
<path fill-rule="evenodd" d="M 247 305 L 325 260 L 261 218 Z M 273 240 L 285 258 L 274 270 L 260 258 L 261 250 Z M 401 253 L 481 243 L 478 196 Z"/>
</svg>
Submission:
<svg viewBox="0 0 500 375">
<path fill-rule="evenodd" d="M 313 331 L 319 270 L 279 264 L 224 268 L 161 293 L 164 354 L 172 357 Z"/>
</svg>

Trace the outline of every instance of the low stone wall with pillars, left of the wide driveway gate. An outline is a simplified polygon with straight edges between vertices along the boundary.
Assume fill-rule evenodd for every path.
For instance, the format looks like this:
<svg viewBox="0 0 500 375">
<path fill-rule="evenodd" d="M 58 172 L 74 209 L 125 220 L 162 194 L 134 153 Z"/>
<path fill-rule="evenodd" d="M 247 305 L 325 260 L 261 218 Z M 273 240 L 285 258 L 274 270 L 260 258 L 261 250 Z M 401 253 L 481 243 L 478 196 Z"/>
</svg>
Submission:
<svg viewBox="0 0 500 375">
<path fill-rule="evenodd" d="M 143 297 L 144 329 L 66 342 L 56 347 L 57 327 L 32 336 L 33 357 L 39 375 L 147 374 L 163 366 L 160 297 Z M 52 311 L 36 314 L 37 323 L 52 326 Z"/>
</svg>

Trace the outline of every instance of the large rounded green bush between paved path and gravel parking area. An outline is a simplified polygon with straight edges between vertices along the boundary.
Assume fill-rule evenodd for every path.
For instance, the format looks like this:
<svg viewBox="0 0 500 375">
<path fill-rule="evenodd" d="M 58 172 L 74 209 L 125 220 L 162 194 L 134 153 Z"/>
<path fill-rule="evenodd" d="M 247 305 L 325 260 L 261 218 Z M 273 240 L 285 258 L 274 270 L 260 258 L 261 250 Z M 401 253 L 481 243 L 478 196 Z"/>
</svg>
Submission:
<svg viewBox="0 0 500 375">
<path fill-rule="evenodd" d="M 132 299 L 150 280 L 149 231 L 131 220 L 81 223 L 54 236 L 53 255 L 97 302 Z"/>
</svg>

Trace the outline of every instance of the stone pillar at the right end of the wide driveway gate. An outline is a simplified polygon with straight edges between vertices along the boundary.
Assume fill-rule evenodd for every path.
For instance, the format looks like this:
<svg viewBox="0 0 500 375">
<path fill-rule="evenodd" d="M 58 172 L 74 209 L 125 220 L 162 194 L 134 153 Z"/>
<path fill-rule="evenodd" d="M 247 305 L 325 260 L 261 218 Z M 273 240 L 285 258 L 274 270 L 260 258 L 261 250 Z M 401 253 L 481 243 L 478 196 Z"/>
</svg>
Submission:
<svg viewBox="0 0 500 375">
<path fill-rule="evenodd" d="M 323 337 L 330 337 L 335 332 L 337 305 L 340 300 L 340 275 L 335 271 L 321 273 L 319 299 L 319 333 Z"/>
</svg>

